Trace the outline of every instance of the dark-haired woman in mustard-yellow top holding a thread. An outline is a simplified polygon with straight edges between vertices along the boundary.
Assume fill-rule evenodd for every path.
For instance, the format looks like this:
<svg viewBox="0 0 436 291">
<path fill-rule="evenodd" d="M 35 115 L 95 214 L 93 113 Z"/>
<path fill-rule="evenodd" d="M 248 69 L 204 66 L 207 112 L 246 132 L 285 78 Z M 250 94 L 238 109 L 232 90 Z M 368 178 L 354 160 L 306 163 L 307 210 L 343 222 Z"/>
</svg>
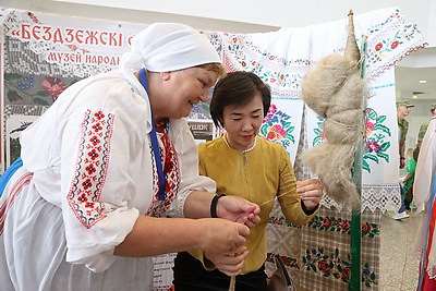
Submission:
<svg viewBox="0 0 436 291">
<path fill-rule="evenodd" d="M 287 221 L 298 226 L 307 222 L 319 206 L 319 180 L 296 182 L 287 150 L 257 135 L 270 99 L 269 87 L 251 72 L 229 73 L 215 86 L 210 114 L 226 132 L 199 146 L 199 172 L 217 182 L 217 193 L 259 205 L 262 220 L 251 229 L 243 253 L 180 252 L 173 267 L 175 291 L 229 290 L 229 276 L 237 270 L 241 275 L 235 290 L 267 290 L 266 226 L 275 199 Z M 242 265 L 238 258 L 245 255 Z"/>
</svg>

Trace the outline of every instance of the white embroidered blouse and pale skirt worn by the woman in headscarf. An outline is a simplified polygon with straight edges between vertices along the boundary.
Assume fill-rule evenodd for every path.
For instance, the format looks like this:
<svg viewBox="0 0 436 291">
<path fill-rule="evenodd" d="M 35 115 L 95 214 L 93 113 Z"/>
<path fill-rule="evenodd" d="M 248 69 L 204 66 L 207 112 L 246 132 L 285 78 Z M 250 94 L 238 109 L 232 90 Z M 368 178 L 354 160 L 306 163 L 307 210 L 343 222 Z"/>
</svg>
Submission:
<svg viewBox="0 0 436 291">
<path fill-rule="evenodd" d="M 14 199 L 0 230 L 0 272 L 14 265 L 9 280 L 15 288 L 45 290 L 59 283 L 59 290 L 69 290 L 74 281 L 74 290 L 152 290 L 152 259 L 116 257 L 114 247 L 140 215 L 182 217 L 190 192 L 214 192 L 215 182 L 198 175 L 186 120 L 170 120 L 173 167 L 167 173 L 167 198 L 158 201 L 149 131 L 147 96 L 113 71 L 72 85 L 22 133 L 23 168 L 2 199 L 23 197 Z M 27 172 L 33 179 L 14 187 Z M 27 229 L 26 239 L 14 234 L 19 227 Z M 28 269 L 38 271 L 21 274 Z"/>
</svg>

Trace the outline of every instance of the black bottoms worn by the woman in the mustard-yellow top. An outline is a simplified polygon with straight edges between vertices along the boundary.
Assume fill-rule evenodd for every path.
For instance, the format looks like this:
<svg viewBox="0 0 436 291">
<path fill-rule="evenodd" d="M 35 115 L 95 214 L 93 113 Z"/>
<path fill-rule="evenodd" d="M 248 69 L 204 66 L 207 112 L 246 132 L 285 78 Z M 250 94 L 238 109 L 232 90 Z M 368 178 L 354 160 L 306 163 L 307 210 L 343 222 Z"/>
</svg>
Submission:
<svg viewBox="0 0 436 291">
<path fill-rule="evenodd" d="M 228 291 L 230 277 L 218 269 L 206 270 L 203 264 L 187 252 L 179 253 L 173 267 L 175 291 Z M 266 274 L 258 270 L 237 276 L 235 291 L 266 291 Z"/>
</svg>

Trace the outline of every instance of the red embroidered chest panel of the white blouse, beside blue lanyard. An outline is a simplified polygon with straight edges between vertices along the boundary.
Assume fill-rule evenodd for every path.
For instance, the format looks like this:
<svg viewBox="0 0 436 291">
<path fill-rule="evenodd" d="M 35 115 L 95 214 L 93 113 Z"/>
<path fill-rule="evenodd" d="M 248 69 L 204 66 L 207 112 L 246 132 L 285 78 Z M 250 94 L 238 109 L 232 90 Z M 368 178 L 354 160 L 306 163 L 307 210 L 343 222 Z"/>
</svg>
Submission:
<svg viewBox="0 0 436 291">
<path fill-rule="evenodd" d="M 146 216 L 161 217 L 162 214 L 169 208 L 171 202 L 175 198 L 177 193 L 179 192 L 180 184 L 180 168 L 179 168 L 179 159 L 175 153 L 174 147 L 170 143 L 168 138 L 168 134 L 162 133 L 160 141 L 164 144 L 164 147 L 160 147 L 160 156 L 162 157 L 162 167 L 165 173 L 165 192 L 167 197 L 165 201 L 158 199 L 158 175 L 156 170 L 155 161 L 153 160 L 153 177 L 154 177 L 154 191 L 155 195 L 153 196 L 153 202 L 148 210 L 146 211 Z M 153 155 L 152 155 L 153 156 Z"/>
</svg>

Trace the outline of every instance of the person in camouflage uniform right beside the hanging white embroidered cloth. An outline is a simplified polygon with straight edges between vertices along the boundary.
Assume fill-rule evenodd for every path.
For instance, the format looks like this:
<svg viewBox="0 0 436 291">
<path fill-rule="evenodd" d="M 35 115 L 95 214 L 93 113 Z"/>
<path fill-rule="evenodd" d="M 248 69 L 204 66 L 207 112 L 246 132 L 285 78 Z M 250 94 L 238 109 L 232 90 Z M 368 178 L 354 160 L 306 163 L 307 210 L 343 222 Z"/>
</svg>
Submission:
<svg viewBox="0 0 436 291">
<path fill-rule="evenodd" d="M 400 157 L 400 169 L 403 169 L 405 166 L 405 136 L 409 131 L 409 122 L 405 120 L 405 117 L 409 116 L 411 108 L 414 105 L 410 104 L 409 101 L 397 101 L 397 122 L 398 122 L 398 148 L 399 148 L 399 157 Z M 393 219 L 399 220 L 403 218 L 408 218 L 409 215 L 405 211 L 405 204 L 404 204 L 404 195 L 402 187 L 401 190 L 401 207 L 397 214 L 392 216 Z"/>
</svg>

